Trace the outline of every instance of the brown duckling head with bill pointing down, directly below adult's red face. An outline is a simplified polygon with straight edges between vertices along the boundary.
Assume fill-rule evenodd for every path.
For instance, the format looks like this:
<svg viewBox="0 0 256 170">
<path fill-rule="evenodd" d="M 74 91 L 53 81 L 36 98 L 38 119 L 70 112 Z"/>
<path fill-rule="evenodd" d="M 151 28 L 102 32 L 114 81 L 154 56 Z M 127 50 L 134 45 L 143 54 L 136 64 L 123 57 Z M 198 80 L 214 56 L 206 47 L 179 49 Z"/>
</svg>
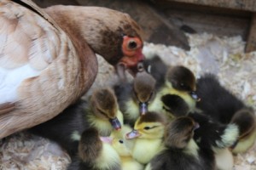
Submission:
<svg viewBox="0 0 256 170">
<path fill-rule="evenodd" d="M 139 105 L 139 112 L 144 115 L 148 111 L 148 104 L 154 99 L 155 80 L 146 71 L 138 72 L 133 82 L 134 99 Z"/>
</svg>

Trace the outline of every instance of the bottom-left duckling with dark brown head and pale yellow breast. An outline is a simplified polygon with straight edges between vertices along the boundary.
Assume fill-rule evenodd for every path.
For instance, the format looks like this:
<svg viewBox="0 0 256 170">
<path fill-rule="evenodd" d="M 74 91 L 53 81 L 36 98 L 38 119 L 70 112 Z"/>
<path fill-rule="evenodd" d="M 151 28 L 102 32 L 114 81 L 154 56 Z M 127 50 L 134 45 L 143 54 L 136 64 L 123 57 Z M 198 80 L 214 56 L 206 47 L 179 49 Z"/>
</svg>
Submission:
<svg viewBox="0 0 256 170">
<path fill-rule="evenodd" d="M 104 141 L 96 128 L 89 127 L 84 130 L 79 140 L 78 156 L 67 170 L 121 170 L 119 155 L 111 144 Z"/>
</svg>

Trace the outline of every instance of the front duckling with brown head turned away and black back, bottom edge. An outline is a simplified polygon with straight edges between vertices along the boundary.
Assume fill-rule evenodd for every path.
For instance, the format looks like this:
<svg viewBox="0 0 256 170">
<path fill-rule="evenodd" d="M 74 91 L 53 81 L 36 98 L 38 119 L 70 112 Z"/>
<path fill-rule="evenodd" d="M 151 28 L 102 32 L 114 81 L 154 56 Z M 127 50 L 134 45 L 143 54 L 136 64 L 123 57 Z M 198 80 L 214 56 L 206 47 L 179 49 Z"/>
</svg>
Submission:
<svg viewBox="0 0 256 170">
<path fill-rule="evenodd" d="M 146 170 L 213 170 L 212 150 L 201 149 L 193 139 L 199 127 L 189 116 L 180 116 L 166 126 L 165 149 L 148 163 Z"/>
</svg>

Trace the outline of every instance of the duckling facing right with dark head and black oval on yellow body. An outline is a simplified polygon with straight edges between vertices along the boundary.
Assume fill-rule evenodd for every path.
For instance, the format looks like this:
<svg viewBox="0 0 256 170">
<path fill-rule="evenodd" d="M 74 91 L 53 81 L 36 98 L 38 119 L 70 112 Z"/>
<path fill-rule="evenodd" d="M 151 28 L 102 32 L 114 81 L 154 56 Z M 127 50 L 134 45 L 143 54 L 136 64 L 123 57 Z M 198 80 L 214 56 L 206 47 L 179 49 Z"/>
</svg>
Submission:
<svg viewBox="0 0 256 170">
<path fill-rule="evenodd" d="M 195 76 L 182 65 L 169 67 L 166 82 L 160 87 L 154 101 L 153 111 L 165 113 L 170 120 L 175 116 L 185 116 L 195 111 L 195 103 L 200 98 L 195 93 Z M 154 102 L 153 104 L 154 105 Z"/>
</svg>

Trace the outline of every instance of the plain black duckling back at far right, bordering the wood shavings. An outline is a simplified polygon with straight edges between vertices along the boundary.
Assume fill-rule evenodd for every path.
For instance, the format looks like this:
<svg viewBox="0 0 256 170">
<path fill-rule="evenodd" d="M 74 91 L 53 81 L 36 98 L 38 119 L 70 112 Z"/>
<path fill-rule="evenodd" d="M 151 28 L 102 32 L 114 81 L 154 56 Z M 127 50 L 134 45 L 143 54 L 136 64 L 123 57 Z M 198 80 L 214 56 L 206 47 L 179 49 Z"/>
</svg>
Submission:
<svg viewBox="0 0 256 170">
<path fill-rule="evenodd" d="M 212 74 L 198 79 L 196 93 L 201 98 L 196 107 L 218 122 L 230 122 L 236 111 L 245 106 L 240 99 L 221 86 L 218 78 Z"/>
</svg>

